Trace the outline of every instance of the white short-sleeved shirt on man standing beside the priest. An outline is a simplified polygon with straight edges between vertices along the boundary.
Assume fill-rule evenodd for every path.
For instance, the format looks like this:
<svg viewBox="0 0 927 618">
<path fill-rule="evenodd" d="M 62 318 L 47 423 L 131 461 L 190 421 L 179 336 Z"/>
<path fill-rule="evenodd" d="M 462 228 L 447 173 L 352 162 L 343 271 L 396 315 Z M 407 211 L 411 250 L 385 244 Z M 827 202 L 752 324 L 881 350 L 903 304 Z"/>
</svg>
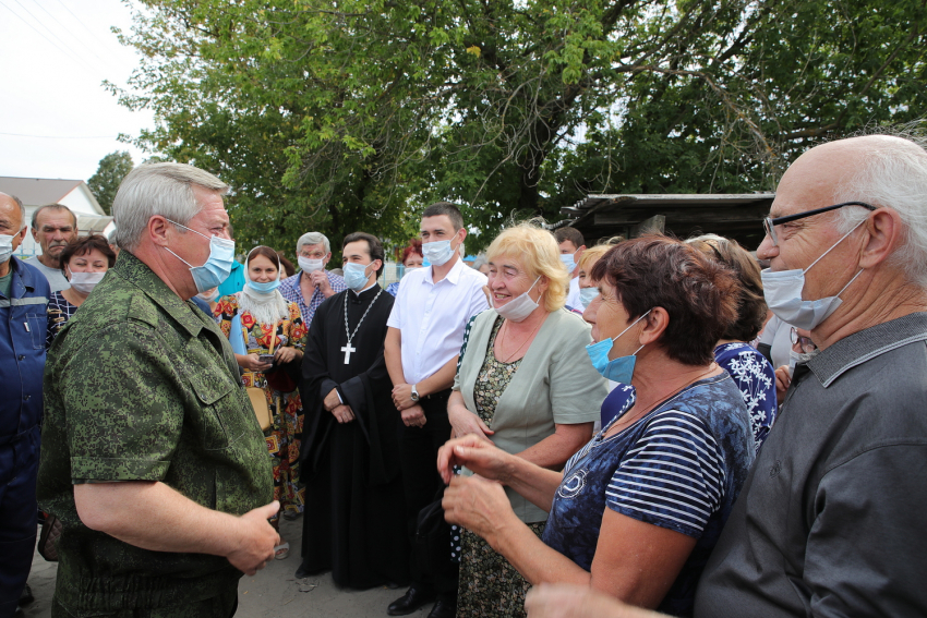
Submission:
<svg viewBox="0 0 927 618">
<path fill-rule="evenodd" d="M 462 259 L 437 283 L 432 267 L 402 277 L 386 326 L 401 332 L 407 384 L 422 381 L 460 353 L 467 323 L 490 306 L 483 293 L 487 281 Z"/>
</svg>

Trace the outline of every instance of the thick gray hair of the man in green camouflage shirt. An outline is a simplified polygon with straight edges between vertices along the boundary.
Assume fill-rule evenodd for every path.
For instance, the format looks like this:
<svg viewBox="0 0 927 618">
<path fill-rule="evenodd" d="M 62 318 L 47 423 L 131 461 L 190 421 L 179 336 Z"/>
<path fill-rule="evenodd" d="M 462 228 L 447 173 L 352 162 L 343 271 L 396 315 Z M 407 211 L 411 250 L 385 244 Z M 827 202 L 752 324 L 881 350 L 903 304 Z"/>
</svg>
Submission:
<svg viewBox="0 0 927 618">
<path fill-rule="evenodd" d="M 129 172 L 112 201 L 116 243 L 128 251 L 137 249 L 155 215 L 182 226 L 189 223 L 203 209 L 193 185 L 219 195 L 229 190 L 209 172 L 184 163 L 146 163 Z"/>
</svg>

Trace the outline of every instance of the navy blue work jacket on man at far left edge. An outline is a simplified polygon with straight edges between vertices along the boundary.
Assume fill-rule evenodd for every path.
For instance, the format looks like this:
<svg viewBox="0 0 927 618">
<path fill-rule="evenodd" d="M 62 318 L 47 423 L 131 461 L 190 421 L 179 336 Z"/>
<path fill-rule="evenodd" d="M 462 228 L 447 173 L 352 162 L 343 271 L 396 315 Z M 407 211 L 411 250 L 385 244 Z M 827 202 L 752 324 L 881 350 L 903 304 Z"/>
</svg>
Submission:
<svg viewBox="0 0 927 618">
<path fill-rule="evenodd" d="M 48 279 L 10 258 L 10 298 L 0 293 L 0 445 L 13 443 L 41 422 Z"/>
</svg>

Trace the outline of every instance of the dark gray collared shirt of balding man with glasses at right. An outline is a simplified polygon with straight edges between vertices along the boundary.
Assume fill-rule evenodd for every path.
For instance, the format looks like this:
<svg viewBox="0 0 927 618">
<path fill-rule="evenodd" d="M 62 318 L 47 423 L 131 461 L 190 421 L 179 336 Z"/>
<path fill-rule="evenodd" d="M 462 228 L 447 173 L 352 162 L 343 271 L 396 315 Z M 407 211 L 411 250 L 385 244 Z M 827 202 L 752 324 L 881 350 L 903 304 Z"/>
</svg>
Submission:
<svg viewBox="0 0 927 618">
<path fill-rule="evenodd" d="M 927 616 L 927 313 L 799 364 L 696 618 Z"/>
</svg>

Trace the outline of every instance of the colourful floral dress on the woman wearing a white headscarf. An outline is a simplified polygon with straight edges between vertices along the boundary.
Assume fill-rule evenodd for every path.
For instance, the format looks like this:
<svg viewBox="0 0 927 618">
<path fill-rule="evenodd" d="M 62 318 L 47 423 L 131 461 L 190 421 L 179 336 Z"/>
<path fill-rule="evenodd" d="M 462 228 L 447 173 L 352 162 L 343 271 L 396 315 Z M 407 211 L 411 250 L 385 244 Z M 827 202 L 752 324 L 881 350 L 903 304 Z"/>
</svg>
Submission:
<svg viewBox="0 0 927 618">
<path fill-rule="evenodd" d="M 239 313 L 237 295 L 222 296 L 216 304 L 214 315 L 226 337 L 242 337 L 231 332 L 231 323 Z M 303 325 L 297 303 L 288 303 L 289 316 L 277 324 L 274 350 L 281 347 L 305 349 L 309 329 Z M 258 324 L 251 313 L 241 312 L 242 329 L 248 331 L 245 348 L 249 354 L 267 354 L 270 351 L 273 324 Z M 299 390 L 279 392 L 273 390 L 261 372 L 244 369 L 244 386 L 263 388 L 270 407 L 273 423 L 264 432 L 267 451 L 274 468 L 274 499 L 280 501 L 285 511 L 301 513 L 305 504 L 305 488 L 299 481 L 299 436 L 302 435 L 303 412 Z M 276 517 L 272 519 L 276 522 Z"/>
</svg>

